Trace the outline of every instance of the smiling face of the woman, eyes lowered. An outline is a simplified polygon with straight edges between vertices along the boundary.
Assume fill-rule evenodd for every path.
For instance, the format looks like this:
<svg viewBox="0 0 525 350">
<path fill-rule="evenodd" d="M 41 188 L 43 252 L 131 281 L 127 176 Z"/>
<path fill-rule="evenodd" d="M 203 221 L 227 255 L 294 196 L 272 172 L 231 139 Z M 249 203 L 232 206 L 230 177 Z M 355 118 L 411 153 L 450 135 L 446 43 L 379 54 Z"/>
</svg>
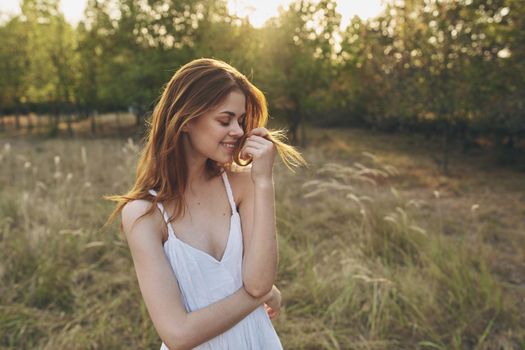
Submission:
<svg viewBox="0 0 525 350">
<path fill-rule="evenodd" d="M 245 118 L 246 98 L 239 90 L 226 96 L 219 106 L 208 113 L 192 119 L 185 132 L 185 148 L 188 161 L 210 158 L 218 163 L 229 163 L 233 150 L 244 134 L 241 124 Z"/>
</svg>

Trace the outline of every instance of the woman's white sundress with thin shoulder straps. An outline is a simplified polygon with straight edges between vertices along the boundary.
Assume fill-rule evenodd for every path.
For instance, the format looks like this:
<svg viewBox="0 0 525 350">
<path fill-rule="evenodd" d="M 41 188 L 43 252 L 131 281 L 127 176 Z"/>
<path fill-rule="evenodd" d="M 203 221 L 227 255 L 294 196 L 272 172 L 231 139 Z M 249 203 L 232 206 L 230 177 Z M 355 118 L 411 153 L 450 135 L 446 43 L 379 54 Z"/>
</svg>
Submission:
<svg viewBox="0 0 525 350">
<path fill-rule="evenodd" d="M 177 238 L 171 224 L 164 253 L 177 279 L 186 311 L 192 312 L 235 293 L 243 286 L 243 238 L 241 219 L 235 207 L 226 172 L 222 179 L 230 202 L 232 215 L 230 232 L 221 260 Z M 157 193 L 150 190 L 154 196 Z M 162 203 L 157 204 L 166 223 L 169 215 Z M 197 346 L 198 350 L 280 350 L 281 342 L 264 305 L 260 305 L 226 332 Z M 160 350 L 169 350 L 164 342 Z"/>
</svg>

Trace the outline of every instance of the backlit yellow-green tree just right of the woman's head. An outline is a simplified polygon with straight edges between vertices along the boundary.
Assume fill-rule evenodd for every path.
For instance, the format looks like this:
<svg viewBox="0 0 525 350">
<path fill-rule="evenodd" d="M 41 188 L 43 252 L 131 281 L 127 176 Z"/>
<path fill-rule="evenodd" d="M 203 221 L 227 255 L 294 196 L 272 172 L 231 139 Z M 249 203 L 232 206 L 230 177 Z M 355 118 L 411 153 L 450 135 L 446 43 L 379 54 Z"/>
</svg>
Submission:
<svg viewBox="0 0 525 350">
<path fill-rule="evenodd" d="M 339 22 L 335 1 L 297 0 L 262 32 L 263 84 L 275 110 L 284 114 L 293 143 L 321 102 L 317 93 L 330 85 Z M 304 132 L 301 142 L 306 142 Z"/>
</svg>

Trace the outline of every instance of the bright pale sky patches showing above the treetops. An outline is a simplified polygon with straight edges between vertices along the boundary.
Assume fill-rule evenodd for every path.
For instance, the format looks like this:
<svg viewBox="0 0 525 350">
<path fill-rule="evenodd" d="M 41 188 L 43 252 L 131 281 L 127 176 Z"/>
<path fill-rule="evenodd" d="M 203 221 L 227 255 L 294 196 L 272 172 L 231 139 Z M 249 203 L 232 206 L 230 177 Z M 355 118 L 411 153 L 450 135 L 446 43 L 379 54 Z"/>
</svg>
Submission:
<svg viewBox="0 0 525 350">
<path fill-rule="evenodd" d="M 366 19 L 376 16 L 382 9 L 381 0 L 337 0 L 337 11 L 342 15 L 342 27 L 346 27 L 354 15 Z M 256 27 L 262 27 L 264 22 L 278 14 L 279 5 L 286 6 L 290 0 L 228 0 L 229 8 L 241 17 L 248 16 Z M 19 0 L 0 0 L 0 12 L 6 15 L 20 13 Z M 62 0 L 61 9 L 66 20 L 77 24 L 82 18 L 86 0 Z"/>
</svg>

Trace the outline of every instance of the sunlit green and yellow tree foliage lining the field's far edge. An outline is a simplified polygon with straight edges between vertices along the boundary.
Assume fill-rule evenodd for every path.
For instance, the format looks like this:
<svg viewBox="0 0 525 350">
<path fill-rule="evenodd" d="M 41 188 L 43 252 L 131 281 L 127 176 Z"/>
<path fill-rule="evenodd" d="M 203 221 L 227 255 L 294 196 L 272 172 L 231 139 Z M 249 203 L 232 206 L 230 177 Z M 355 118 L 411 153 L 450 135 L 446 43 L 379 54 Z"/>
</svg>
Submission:
<svg viewBox="0 0 525 350">
<path fill-rule="evenodd" d="M 455 143 L 522 148 L 520 0 L 390 0 L 346 28 L 335 0 L 292 1 L 262 28 L 226 0 L 89 0 L 76 28 L 58 3 L 23 0 L 0 24 L 0 112 L 17 127 L 28 112 L 57 124 L 116 110 L 143 125 L 174 71 L 211 56 L 253 78 L 294 143 L 306 123 L 422 132 L 442 140 L 445 172 Z"/>
</svg>

